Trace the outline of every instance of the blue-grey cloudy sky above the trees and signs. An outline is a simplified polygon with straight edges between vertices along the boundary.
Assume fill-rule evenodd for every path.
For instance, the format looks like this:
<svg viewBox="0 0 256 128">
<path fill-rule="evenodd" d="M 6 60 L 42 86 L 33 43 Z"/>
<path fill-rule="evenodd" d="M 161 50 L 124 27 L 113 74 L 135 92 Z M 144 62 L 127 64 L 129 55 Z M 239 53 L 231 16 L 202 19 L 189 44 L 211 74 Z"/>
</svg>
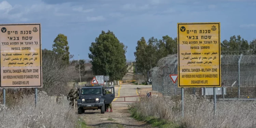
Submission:
<svg viewBox="0 0 256 128">
<path fill-rule="evenodd" d="M 134 60 L 141 37 L 177 37 L 177 23 L 221 22 L 221 40 L 256 38 L 256 0 L 7 0 L 0 23 L 41 23 L 42 47 L 52 49 L 59 33 L 68 37 L 74 59 L 88 59 L 91 42 L 111 30 Z"/>
</svg>

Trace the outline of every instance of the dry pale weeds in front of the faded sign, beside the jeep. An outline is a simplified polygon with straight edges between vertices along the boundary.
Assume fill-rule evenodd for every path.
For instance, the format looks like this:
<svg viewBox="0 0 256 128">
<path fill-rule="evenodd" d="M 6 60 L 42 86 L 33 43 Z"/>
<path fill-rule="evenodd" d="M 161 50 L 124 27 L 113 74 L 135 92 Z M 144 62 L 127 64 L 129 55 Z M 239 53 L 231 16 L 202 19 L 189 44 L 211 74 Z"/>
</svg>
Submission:
<svg viewBox="0 0 256 128">
<path fill-rule="evenodd" d="M 65 98 L 65 97 L 64 97 Z M 68 104 L 54 102 L 45 93 L 24 96 L 13 108 L 0 106 L 0 128 L 75 128 L 77 116 Z"/>
</svg>

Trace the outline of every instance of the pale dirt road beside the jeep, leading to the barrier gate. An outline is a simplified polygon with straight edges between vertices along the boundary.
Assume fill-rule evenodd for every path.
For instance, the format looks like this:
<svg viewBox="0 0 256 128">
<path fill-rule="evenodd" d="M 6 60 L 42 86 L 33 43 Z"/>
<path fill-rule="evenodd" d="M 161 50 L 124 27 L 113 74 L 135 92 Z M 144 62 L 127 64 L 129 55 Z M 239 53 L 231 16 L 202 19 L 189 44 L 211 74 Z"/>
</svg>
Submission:
<svg viewBox="0 0 256 128">
<path fill-rule="evenodd" d="M 121 85 L 115 87 L 116 97 L 122 96 L 137 96 L 136 89 L 148 88 L 151 85 Z M 135 101 L 138 97 L 126 98 L 126 101 Z M 116 98 L 114 101 L 124 101 L 124 98 Z M 132 103 L 132 102 L 130 102 Z M 101 114 L 100 110 L 87 110 L 84 114 L 79 115 L 83 117 L 86 124 L 90 128 L 151 128 L 150 125 L 145 122 L 139 122 L 128 113 L 127 106 L 129 102 L 112 102 L 113 112 Z"/>
</svg>

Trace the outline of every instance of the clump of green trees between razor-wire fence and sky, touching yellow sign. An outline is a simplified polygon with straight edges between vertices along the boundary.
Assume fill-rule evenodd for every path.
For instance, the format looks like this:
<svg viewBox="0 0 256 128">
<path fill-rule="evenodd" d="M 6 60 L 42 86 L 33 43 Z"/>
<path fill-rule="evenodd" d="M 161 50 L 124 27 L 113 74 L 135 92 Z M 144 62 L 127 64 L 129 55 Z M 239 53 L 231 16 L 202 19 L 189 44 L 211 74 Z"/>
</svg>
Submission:
<svg viewBox="0 0 256 128">
<path fill-rule="evenodd" d="M 148 42 L 142 37 L 137 41 L 136 52 L 134 52 L 136 67 L 139 73 L 147 76 L 147 71 L 156 67 L 159 59 L 168 54 L 177 53 L 177 38 L 172 39 L 168 35 L 157 40 L 151 37 Z"/>
</svg>

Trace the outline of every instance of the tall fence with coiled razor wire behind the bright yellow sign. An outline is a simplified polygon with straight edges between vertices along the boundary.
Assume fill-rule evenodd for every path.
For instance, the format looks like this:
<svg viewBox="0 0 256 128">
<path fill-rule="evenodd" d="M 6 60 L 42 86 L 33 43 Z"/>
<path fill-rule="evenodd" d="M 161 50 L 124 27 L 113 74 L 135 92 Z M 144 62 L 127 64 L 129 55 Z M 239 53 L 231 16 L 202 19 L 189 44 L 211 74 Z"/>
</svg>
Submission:
<svg viewBox="0 0 256 128">
<path fill-rule="evenodd" d="M 169 76 L 178 74 L 177 68 L 177 54 L 161 58 L 150 71 L 152 90 L 162 95 L 180 95 L 177 81 L 174 87 Z M 222 51 L 221 81 L 226 87 L 225 98 L 256 98 L 256 51 Z M 184 94 L 201 95 L 201 88 L 184 88 Z"/>
</svg>

